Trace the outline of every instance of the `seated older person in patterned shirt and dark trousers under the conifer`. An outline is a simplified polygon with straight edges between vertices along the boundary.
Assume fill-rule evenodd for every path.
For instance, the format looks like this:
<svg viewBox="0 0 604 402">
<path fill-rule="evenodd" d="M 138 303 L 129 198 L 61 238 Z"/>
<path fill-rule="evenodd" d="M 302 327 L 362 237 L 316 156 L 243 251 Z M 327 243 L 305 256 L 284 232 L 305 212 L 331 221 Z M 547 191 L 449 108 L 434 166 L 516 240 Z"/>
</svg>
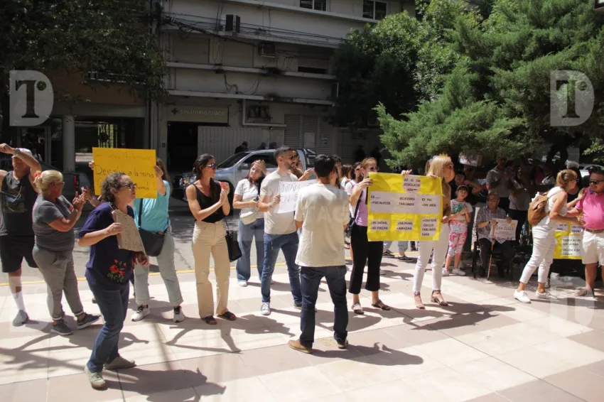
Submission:
<svg viewBox="0 0 604 402">
<path fill-rule="evenodd" d="M 497 192 L 491 192 L 487 197 L 487 206 L 480 208 L 476 214 L 476 226 L 478 227 L 478 243 L 480 243 L 480 276 L 485 276 L 485 271 L 489 268 L 490 257 L 492 251 L 501 253 L 501 261 L 497 266 L 497 273 L 503 278 L 504 270 L 512 268 L 512 260 L 516 255 L 512 242 L 498 239 L 491 239 L 491 228 L 497 225 L 495 219 L 507 219 L 511 222 L 512 219 L 507 216 L 506 212 L 499 207 L 500 197 Z M 495 241 L 495 243 L 492 243 Z"/>
</svg>

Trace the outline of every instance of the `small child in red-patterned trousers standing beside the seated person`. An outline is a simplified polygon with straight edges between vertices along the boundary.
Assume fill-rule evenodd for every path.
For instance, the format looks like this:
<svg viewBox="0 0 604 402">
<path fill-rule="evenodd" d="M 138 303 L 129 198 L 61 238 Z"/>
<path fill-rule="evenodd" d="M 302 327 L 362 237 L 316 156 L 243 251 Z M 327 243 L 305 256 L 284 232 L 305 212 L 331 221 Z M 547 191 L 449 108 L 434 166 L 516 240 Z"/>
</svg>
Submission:
<svg viewBox="0 0 604 402">
<path fill-rule="evenodd" d="M 468 223 L 470 223 L 472 217 L 472 205 L 465 201 L 465 198 L 468 197 L 468 186 L 460 185 L 455 195 L 457 197 L 451 200 L 451 221 L 449 221 L 451 232 L 449 233 L 447 259 L 445 268 L 443 268 L 444 276 L 448 276 L 450 273 L 449 266 L 451 266 L 453 256 L 455 256 L 453 273 L 459 276 L 465 275 L 465 272 L 459 268 L 459 264 L 463 253 L 463 244 L 465 244 L 465 239 L 468 237 Z"/>
</svg>

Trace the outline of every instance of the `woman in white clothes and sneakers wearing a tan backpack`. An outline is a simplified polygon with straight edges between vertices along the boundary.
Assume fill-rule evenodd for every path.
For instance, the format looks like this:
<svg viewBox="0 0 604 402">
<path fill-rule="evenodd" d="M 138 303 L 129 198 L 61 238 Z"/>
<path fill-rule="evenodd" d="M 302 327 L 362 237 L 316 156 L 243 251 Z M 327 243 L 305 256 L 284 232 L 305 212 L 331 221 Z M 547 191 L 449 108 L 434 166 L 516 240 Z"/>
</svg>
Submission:
<svg viewBox="0 0 604 402">
<path fill-rule="evenodd" d="M 558 222 L 578 224 L 576 217 L 567 217 L 568 206 L 566 200 L 568 192 L 573 191 L 577 186 L 577 173 L 571 169 L 562 170 L 556 177 L 556 187 L 547 192 L 547 203 L 543 219 L 534 225 L 533 232 L 533 252 L 531 259 L 524 266 L 520 283 L 517 290 L 514 291 L 514 298 L 522 303 L 531 303 L 531 299 L 524 290 L 532 274 L 539 267 L 539 276 L 537 277 L 536 298 L 547 299 L 549 293 L 545 290 L 549 267 L 554 262 L 554 248 L 556 246 L 556 224 Z"/>
</svg>

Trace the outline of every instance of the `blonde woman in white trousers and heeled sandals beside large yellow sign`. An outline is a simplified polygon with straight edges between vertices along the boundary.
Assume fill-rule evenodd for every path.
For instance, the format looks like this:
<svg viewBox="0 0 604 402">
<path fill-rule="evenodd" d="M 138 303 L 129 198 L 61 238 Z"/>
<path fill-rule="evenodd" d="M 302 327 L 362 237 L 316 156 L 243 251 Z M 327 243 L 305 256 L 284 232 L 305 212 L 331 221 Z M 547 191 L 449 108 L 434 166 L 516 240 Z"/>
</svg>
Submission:
<svg viewBox="0 0 604 402">
<path fill-rule="evenodd" d="M 415 266 L 413 277 L 413 292 L 415 306 L 424 310 L 426 306 L 421 302 L 421 283 L 424 281 L 424 273 L 428 260 L 434 251 L 432 258 L 432 295 L 431 302 L 438 305 L 448 305 L 441 293 L 443 280 L 443 263 L 445 262 L 449 245 L 449 217 L 451 214 L 451 186 L 448 183 L 455 178 L 453 161 L 446 155 L 439 155 L 426 163 L 426 175 L 431 178 L 441 178 L 443 187 L 441 236 L 438 240 L 421 241 L 419 244 L 419 258 Z"/>
</svg>

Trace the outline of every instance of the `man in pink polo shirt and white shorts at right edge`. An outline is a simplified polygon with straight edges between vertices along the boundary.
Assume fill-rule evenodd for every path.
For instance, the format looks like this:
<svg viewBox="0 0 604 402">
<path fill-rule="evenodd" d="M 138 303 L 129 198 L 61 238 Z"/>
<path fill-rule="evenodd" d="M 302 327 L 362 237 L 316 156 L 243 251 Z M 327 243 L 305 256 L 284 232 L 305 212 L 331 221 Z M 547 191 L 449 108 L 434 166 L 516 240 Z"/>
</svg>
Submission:
<svg viewBox="0 0 604 402">
<path fill-rule="evenodd" d="M 586 287 L 577 290 L 578 296 L 595 296 L 593 287 L 598 274 L 598 263 L 604 266 L 604 170 L 590 169 L 589 188 L 579 194 L 577 205 L 567 216 L 579 217 L 583 226 L 581 259 L 585 264 Z"/>
</svg>

